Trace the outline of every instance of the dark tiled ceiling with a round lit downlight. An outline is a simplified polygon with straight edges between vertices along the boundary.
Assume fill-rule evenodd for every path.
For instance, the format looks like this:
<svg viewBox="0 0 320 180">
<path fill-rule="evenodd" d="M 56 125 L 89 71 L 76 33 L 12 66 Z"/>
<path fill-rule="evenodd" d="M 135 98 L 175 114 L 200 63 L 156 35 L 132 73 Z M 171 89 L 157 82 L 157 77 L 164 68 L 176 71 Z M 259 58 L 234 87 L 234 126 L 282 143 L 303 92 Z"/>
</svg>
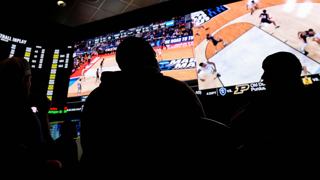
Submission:
<svg viewBox="0 0 320 180">
<path fill-rule="evenodd" d="M 65 0 L 64 7 L 58 6 L 58 0 L 5 1 L 1 15 L 40 18 L 75 27 L 166 1 L 169 0 Z"/>
</svg>

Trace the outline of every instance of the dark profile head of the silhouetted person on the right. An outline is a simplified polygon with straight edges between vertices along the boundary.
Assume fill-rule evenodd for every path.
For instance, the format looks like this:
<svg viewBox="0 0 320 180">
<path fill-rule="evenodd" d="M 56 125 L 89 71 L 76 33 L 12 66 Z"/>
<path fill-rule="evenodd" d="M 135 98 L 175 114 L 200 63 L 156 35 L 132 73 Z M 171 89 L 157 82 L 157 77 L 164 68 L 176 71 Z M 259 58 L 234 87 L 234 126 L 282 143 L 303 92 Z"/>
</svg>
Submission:
<svg viewBox="0 0 320 180">
<path fill-rule="evenodd" d="M 276 90 L 285 81 L 287 84 L 303 85 L 300 75 L 302 66 L 299 59 L 290 52 L 277 52 L 262 62 L 264 73 L 261 76 L 267 90 Z"/>
</svg>

